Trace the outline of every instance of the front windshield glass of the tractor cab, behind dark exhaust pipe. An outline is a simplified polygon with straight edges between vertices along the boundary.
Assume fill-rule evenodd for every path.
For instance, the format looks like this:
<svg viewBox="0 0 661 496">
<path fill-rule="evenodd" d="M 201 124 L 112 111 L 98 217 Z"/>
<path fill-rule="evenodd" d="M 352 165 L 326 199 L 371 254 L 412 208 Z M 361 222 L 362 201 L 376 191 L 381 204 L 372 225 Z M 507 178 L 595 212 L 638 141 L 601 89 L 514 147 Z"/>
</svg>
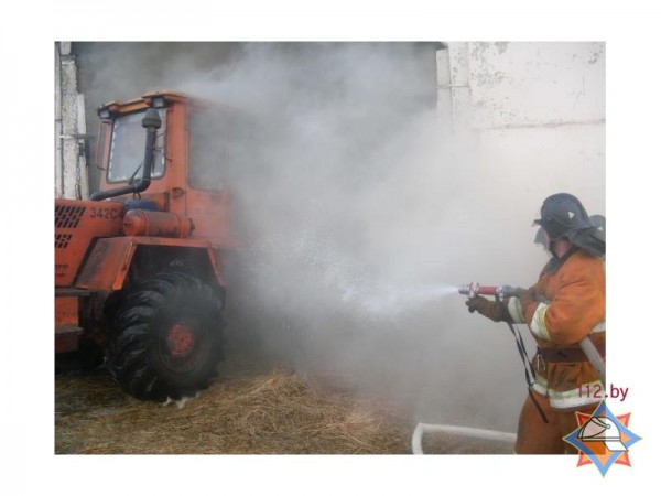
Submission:
<svg viewBox="0 0 661 496">
<path fill-rule="evenodd" d="M 154 168 L 151 177 L 162 177 L 165 171 L 165 153 L 163 150 L 165 134 L 165 111 L 159 110 L 163 122 L 156 132 L 154 150 Z M 144 112 L 129 114 L 115 120 L 112 141 L 110 143 L 110 160 L 108 162 L 108 182 L 126 183 L 142 177 L 142 161 L 144 160 L 144 143 L 147 131 L 142 127 Z"/>
</svg>

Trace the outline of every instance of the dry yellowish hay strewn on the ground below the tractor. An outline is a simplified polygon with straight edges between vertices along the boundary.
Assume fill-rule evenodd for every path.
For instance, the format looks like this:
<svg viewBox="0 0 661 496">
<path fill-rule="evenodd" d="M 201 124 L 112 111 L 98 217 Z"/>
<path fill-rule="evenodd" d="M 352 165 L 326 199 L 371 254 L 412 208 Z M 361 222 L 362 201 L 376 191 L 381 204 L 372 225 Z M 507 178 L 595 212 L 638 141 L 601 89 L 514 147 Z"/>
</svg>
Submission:
<svg viewBox="0 0 661 496">
<path fill-rule="evenodd" d="M 219 380 L 185 402 L 124 395 L 109 377 L 56 379 L 56 453 L 410 453 L 409 422 L 376 399 L 286 369 Z"/>
</svg>

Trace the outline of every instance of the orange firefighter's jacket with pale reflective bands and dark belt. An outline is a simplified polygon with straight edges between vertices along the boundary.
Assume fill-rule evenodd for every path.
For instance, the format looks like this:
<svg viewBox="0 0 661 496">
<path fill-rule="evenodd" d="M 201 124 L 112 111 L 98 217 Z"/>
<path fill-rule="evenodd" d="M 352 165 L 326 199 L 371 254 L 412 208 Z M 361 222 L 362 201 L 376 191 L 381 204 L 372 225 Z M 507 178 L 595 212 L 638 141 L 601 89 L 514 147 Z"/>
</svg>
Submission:
<svg viewBox="0 0 661 496">
<path fill-rule="evenodd" d="M 604 386 L 578 343 L 586 336 L 605 352 L 606 274 L 602 259 L 582 249 L 555 259 L 531 288 L 535 301 L 511 298 L 514 323 L 527 323 L 537 341 L 533 388 L 556 409 L 574 409 L 600 401 Z M 571 359 L 544 359 L 570 356 Z"/>
</svg>

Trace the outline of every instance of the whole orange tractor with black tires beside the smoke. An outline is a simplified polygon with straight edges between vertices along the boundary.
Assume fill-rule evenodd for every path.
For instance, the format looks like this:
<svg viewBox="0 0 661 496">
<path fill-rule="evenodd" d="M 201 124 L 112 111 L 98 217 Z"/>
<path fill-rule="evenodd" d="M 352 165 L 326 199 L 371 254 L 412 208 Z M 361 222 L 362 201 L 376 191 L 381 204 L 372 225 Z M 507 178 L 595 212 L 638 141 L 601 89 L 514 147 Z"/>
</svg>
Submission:
<svg viewBox="0 0 661 496">
<path fill-rule="evenodd" d="M 98 109 L 99 191 L 55 201 L 55 353 L 140 399 L 206 387 L 224 356 L 240 116 L 175 91 Z"/>
</svg>

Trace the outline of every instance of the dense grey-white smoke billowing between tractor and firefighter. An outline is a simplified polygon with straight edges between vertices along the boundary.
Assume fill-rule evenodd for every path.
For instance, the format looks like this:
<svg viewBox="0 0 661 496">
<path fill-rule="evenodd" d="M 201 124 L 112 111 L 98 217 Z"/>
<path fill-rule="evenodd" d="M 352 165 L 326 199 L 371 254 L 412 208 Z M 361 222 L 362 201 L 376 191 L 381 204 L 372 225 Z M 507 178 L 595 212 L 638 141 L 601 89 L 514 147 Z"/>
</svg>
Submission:
<svg viewBox="0 0 661 496">
<path fill-rule="evenodd" d="M 131 85 L 94 78 L 106 100 L 173 87 L 258 123 L 237 137 L 252 164 L 228 177 L 243 238 L 229 269 L 235 345 L 387 393 L 421 421 L 513 431 L 525 395 L 514 344 L 456 287 L 534 282 L 544 255 L 529 226 L 564 184 L 517 186 L 478 137 L 438 118 L 438 46 L 217 47 L 221 65 L 213 45 L 191 45 L 165 73 L 150 69 L 165 46 L 104 46 L 150 62 L 132 65 Z"/>
</svg>

